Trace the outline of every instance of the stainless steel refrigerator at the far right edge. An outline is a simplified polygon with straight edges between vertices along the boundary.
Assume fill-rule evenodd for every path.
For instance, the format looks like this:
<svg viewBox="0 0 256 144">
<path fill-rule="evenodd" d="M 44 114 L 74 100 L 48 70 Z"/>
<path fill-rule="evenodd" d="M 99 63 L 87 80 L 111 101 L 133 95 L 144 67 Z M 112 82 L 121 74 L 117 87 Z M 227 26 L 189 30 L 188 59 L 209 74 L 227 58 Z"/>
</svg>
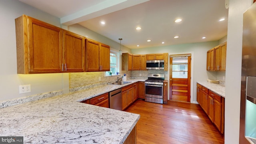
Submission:
<svg viewBox="0 0 256 144">
<path fill-rule="evenodd" d="M 244 12 L 239 144 L 256 144 L 256 3 Z"/>
</svg>

